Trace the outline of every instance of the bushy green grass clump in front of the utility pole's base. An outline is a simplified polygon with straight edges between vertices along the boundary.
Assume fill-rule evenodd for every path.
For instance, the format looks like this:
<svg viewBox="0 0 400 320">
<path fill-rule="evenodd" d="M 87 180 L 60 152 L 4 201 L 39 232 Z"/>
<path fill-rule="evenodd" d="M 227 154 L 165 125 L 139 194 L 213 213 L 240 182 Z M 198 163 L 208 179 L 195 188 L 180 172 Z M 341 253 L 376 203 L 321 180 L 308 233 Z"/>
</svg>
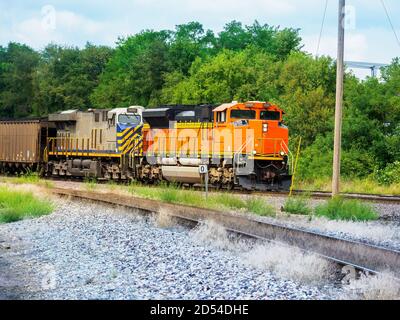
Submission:
<svg viewBox="0 0 400 320">
<path fill-rule="evenodd" d="M 371 221 L 379 218 L 379 214 L 372 206 L 358 200 L 344 200 L 341 197 L 333 198 L 317 206 L 315 215 L 330 220 L 346 221 Z"/>
</svg>

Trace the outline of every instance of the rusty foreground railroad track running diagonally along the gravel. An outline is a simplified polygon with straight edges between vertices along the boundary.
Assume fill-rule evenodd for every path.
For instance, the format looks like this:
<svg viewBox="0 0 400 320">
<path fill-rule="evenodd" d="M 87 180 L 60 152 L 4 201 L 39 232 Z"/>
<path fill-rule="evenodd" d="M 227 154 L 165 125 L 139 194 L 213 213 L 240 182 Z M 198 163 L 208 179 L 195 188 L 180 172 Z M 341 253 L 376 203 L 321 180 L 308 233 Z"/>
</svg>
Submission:
<svg viewBox="0 0 400 320">
<path fill-rule="evenodd" d="M 357 270 L 372 273 L 389 271 L 400 278 L 400 251 L 330 237 L 321 233 L 304 231 L 277 223 L 266 223 L 258 220 L 257 217 L 249 217 L 243 214 L 226 213 L 133 196 L 93 191 L 67 188 L 53 188 L 49 191 L 58 196 L 133 208 L 142 213 L 167 211 L 172 219 L 188 226 L 196 226 L 202 221 L 212 220 L 224 227 L 228 232 L 242 237 L 283 243 L 317 254 L 340 265 L 349 265 Z"/>
</svg>

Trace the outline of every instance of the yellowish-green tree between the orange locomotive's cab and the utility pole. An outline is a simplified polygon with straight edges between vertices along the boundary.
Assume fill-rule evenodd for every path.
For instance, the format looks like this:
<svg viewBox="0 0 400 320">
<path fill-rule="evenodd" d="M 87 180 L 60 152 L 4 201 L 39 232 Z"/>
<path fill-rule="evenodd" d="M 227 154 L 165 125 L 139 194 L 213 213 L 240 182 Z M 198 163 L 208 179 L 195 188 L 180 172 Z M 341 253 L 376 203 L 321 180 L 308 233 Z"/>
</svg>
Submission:
<svg viewBox="0 0 400 320">
<path fill-rule="evenodd" d="M 282 64 L 278 103 L 286 111 L 291 134 L 301 136 L 304 146 L 333 129 L 335 75 L 335 65 L 326 57 L 293 53 Z"/>
</svg>

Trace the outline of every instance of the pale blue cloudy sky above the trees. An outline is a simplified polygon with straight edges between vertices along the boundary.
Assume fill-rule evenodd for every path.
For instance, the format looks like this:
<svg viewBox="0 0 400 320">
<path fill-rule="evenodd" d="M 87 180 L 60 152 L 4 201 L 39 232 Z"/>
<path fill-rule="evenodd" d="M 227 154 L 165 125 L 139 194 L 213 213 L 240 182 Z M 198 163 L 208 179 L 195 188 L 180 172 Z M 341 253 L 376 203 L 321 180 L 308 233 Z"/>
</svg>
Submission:
<svg viewBox="0 0 400 320">
<path fill-rule="evenodd" d="M 400 1 L 384 0 L 400 36 Z M 337 0 L 329 0 L 320 54 L 336 56 Z M 381 0 L 348 0 L 346 60 L 389 63 L 400 44 Z M 35 49 L 55 42 L 114 46 L 119 36 L 143 29 L 173 29 L 201 22 L 220 31 L 239 20 L 301 29 L 305 50 L 315 54 L 325 0 L 0 0 L 0 45 L 23 42 Z M 54 14 L 53 14 L 54 12 Z M 353 19 L 354 17 L 354 19 Z"/>
</svg>

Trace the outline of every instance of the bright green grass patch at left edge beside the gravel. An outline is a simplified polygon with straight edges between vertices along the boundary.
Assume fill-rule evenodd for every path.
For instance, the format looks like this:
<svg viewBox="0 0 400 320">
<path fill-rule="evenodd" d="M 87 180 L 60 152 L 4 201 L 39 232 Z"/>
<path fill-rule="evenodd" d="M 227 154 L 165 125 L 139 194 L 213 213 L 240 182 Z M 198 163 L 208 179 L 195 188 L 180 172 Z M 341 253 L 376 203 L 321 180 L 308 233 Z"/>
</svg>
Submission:
<svg viewBox="0 0 400 320">
<path fill-rule="evenodd" d="M 50 214 L 53 204 L 35 197 L 31 192 L 0 187 L 0 223 L 9 223 L 26 218 Z"/>
</svg>

